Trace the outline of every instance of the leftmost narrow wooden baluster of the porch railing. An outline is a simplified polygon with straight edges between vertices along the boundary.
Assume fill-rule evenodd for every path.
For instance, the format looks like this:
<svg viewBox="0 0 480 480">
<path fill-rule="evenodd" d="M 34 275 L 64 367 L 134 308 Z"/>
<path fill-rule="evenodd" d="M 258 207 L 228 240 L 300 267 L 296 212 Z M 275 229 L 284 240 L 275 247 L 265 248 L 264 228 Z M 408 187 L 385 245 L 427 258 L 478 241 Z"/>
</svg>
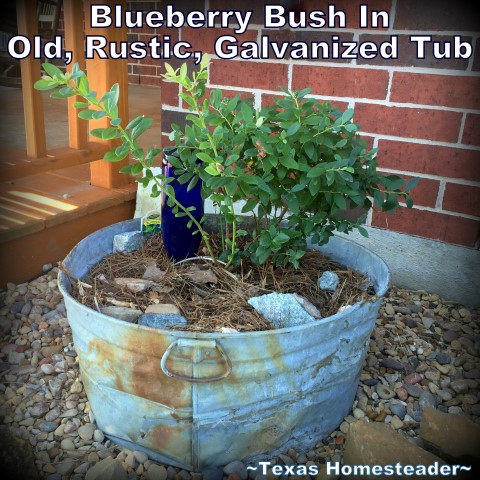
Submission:
<svg viewBox="0 0 480 480">
<path fill-rule="evenodd" d="M 36 0 L 17 0 L 17 22 L 18 34 L 25 35 L 33 44 L 33 37 L 38 34 Z M 33 58 L 31 53 L 20 60 L 20 69 L 27 155 L 40 158 L 47 153 L 42 92 L 33 88 L 35 81 L 40 78 L 40 60 Z"/>
</svg>

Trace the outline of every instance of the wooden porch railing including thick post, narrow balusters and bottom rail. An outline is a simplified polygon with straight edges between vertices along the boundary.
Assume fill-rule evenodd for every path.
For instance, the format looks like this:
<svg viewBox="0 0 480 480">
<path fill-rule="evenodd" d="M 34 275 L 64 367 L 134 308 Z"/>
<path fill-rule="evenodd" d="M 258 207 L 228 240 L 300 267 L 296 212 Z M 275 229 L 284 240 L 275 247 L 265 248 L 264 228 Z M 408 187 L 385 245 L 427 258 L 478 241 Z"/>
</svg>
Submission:
<svg viewBox="0 0 480 480">
<path fill-rule="evenodd" d="M 92 90 L 99 94 L 110 89 L 113 83 L 120 86 L 120 99 L 118 102 L 119 116 L 128 121 L 128 91 L 127 91 L 127 61 L 126 60 L 85 60 L 84 36 L 89 34 L 103 35 L 107 41 L 126 41 L 125 28 L 95 28 L 90 27 L 90 5 L 93 0 L 64 0 L 65 48 L 73 55 L 72 63 L 67 67 L 72 68 L 77 62 L 81 69 L 88 72 L 89 83 Z M 110 5 L 125 3 L 124 0 L 104 0 L 103 4 Z M 124 5 L 125 6 L 125 5 Z M 85 12 L 85 15 L 84 15 Z M 38 35 L 38 16 L 36 0 L 17 1 L 18 34 L 30 39 Z M 84 21 L 85 20 L 85 21 Z M 84 31 L 85 24 L 85 31 Z M 88 125 L 78 118 L 78 111 L 73 107 L 75 97 L 69 99 L 68 104 L 68 132 L 69 144 L 65 148 L 47 150 L 45 135 L 45 115 L 42 93 L 35 90 L 33 85 L 41 76 L 40 60 L 33 55 L 20 61 L 22 77 L 22 94 L 25 117 L 26 155 L 33 161 L 13 173 L 13 177 L 38 173 L 53 168 L 64 168 L 90 163 L 91 184 L 104 188 L 116 188 L 129 182 L 126 175 L 118 173 L 122 166 L 120 163 L 111 164 L 104 160 L 105 151 L 115 145 L 115 140 L 102 141 L 88 137 Z M 78 100 L 78 99 L 77 99 Z M 90 129 L 106 126 L 108 119 L 90 122 Z M 127 163 L 125 160 L 124 163 Z M 12 178 L 12 175 L 10 175 Z"/>
</svg>

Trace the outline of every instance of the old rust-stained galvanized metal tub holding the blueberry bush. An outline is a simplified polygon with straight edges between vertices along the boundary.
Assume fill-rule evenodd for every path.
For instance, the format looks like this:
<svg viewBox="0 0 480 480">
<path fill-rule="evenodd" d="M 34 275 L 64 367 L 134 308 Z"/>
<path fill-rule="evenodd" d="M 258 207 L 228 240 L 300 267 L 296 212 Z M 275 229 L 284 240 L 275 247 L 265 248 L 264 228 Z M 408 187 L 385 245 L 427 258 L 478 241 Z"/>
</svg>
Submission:
<svg viewBox="0 0 480 480">
<path fill-rule="evenodd" d="M 82 240 L 65 266 L 82 278 L 112 252 L 118 223 Z M 151 458 L 201 471 L 311 448 L 351 409 L 380 298 L 386 264 L 365 248 L 332 238 L 318 248 L 367 273 L 378 300 L 307 325 L 237 334 L 158 330 L 81 305 L 59 274 L 85 390 L 110 438 Z"/>
</svg>

